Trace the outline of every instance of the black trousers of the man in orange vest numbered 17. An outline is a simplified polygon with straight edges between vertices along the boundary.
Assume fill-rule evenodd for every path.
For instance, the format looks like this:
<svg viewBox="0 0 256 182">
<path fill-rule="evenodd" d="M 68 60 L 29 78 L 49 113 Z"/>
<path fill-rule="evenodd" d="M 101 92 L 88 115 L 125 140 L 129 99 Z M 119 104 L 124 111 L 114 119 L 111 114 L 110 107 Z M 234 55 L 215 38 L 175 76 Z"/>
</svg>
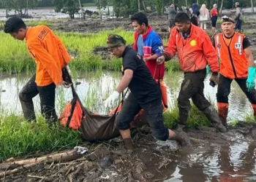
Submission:
<svg viewBox="0 0 256 182">
<path fill-rule="evenodd" d="M 249 102 L 252 103 L 252 108 L 254 112 L 256 112 L 256 90 L 252 90 L 249 92 L 246 87 L 246 80 L 245 79 L 235 79 L 238 83 L 239 87 L 245 93 L 246 97 L 249 99 Z M 230 95 L 230 85 L 233 79 L 228 79 L 227 77 L 219 74 L 219 84 L 218 84 L 218 91 L 217 91 L 217 102 L 218 103 L 228 103 L 228 95 Z M 227 106 L 228 107 L 228 106 Z"/>
</svg>

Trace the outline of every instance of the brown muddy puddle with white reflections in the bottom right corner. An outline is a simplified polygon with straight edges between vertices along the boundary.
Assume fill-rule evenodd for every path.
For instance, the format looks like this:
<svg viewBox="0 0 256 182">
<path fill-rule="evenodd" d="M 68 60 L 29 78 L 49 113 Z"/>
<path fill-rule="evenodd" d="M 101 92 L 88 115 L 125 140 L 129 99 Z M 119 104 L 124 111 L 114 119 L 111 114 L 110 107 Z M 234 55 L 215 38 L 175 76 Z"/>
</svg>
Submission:
<svg viewBox="0 0 256 182">
<path fill-rule="evenodd" d="M 255 148 L 255 144 L 238 142 L 181 151 L 167 166 L 165 175 L 170 177 L 165 182 L 256 181 Z"/>
</svg>

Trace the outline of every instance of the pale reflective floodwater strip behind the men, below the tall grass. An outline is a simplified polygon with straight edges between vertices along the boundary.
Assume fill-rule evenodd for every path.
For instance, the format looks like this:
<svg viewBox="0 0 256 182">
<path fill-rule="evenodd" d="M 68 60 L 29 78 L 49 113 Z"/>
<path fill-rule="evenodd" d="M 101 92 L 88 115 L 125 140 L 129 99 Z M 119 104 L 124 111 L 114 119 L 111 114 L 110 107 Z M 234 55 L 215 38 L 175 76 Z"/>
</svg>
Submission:
<svg viewBox="0 0 256 182">
<path fill-rule="evenodd" d="M 18 74 L 12 76 L 1 76 L 0 79 L 0 106 L 5 111 L 21 113 L 20 102 L 18 100 L 18 92 L 22 89 L 23 85 L 28 82 L 31 74 Z M 118 84 L 121 74 L 113 72 L 104 73 L 87 73 L 78 76 L 75 85 L 80 99 L 91 110 L 97 111 L 100 114 L 107 114 L 108 110 L 102 106 L 102 101 L 108 98 L 108 95 L 113 92 L 113 89 Z M 165 84 L 167 85 L 167 95 L 170 108 L 178 98 L 178 90 L 183 78 L 181 72 L 174 74 L 166 74 Z M 217 103 L 216 92 L 217 87 L 211 87 L 208 83 L 209 76 L 205 81 L 205 95 L 212 103 Z M 56 108 L 59 112 L 66 103 L 72 99 L 72 92 L 70 89 L 58 87 L 56 90 Z M 228 114 L 229 119 L 243 120 L 246 114 L 252 114 L 252 108 L 246 96 L 238 87 L 236 82 L 232 83 L 231 94 L 229 97 L 230 111 Z M 39 97 L 34 98 L 36 111 L 39 111 Z"/>
</svg>

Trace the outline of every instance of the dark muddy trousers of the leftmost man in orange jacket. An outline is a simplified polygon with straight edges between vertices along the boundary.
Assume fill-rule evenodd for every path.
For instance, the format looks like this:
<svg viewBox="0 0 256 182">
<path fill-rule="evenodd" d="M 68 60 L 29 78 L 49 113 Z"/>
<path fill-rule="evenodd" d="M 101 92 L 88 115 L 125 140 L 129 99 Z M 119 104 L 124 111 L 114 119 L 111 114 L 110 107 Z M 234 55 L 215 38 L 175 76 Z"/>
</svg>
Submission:
<svg viewBox="0 0 256 182">
<path fill-rule="evenodd" d="M 44 87 L 39 87 L 37 86 L 35 79 L 36 75 L 32 76 L 31 79 L 29 79 L 29 82 L 27 82 L 19 92 L 20 103 L 25 119 L 28 122 L 33 120 L 36 121 L 32 98 L 39 94 L 42 115 L 45 116 L 46 121 L 49 123 L 57 122 L 58 117 L 55 111 L 56 85 L 52 83 Z"/>
</svg>

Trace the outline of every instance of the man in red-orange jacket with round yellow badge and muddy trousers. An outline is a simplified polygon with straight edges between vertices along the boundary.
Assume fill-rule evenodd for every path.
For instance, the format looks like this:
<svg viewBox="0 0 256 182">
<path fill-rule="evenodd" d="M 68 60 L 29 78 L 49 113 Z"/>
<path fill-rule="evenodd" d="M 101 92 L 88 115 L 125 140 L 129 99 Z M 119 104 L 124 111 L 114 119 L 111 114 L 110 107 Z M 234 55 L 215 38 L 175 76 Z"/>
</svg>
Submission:
<svg viewBox="0 0 256 182">
<path fill-rule="evenodd" d="M 157 59 L 159 64 L 173 58 L 178 53 L 178 61 L 181 70 L 184 71 L 184 80 L 178 95 L 178 127 L 182 131 L 187 124 L 191 108 L 189 99 L 206 115 L 211 124 L 225 132 L 217 111 L 211 106 L 203 95 L 203 81 L 206 76 L 206 66 L 209 65 L 212 71 L 211 81 L 219 82 L 219 65 L 217 52 L 211 44 L 208 34 L 199 27 L 192 25 L 189 15 L 185 12 L 178 12 L 175 17 L 176 27 L 172 29 L 167 42 L 165 52 Z"/>
</svg>

